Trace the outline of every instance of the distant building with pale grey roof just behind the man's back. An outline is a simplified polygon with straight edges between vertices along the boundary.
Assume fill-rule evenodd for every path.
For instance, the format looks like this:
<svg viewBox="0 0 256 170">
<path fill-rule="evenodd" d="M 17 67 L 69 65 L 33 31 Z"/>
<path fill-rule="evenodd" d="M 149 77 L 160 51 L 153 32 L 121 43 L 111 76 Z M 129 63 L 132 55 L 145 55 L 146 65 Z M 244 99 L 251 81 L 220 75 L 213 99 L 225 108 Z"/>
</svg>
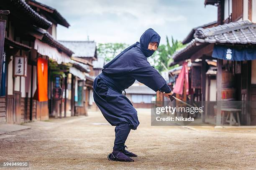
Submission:
<svg viewBox="0 0 256 170">
<path fill-rule="evenodd" d="M 84 72 L 84 79 L 75 79 L 75 113 L 76 115 L 87 115 L 93 106 L 93 81 L 95 72 L 92 61 L 97 60 L 97 47 L 94 41 L 60 41 L 63 45 L 74 51 L 72 60 L 83 63 L 88 68 Z M 75 74 L 74 74 L 75 75 Z"/>
</svg>

